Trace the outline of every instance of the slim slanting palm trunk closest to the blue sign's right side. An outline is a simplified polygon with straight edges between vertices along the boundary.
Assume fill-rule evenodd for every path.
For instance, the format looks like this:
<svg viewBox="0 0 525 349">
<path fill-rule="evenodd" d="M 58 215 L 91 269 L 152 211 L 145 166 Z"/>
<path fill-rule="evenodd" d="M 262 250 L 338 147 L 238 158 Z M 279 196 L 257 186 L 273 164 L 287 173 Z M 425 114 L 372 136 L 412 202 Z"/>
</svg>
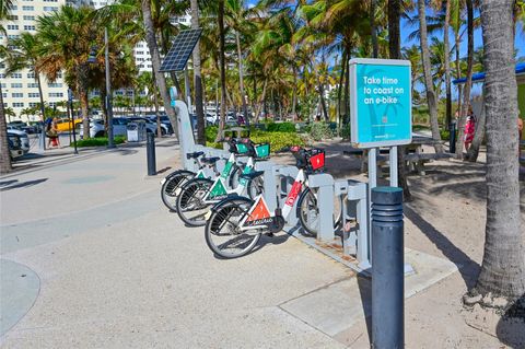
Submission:
<svg viewBox="0 0 525 349">
<path fill-rule="evenodd" d="M 436 141 L 441 141 L 440 125 L 438 124 L 438 101 L 435 97 L 434 85 L 432 82 L 432 71 L 430 66 L 430 51 L 427 38 L 427 18 L 424 9 L 424 0 L 418 0 L 418 14 L 419 14 L 419 32 L 421 34 L 421 58 L 424 74 L 424 85 L 427 90 L 427 103 L 429 105 L 430 126 L 432 129 L 432 138 Z M 434 146 L 435 152 L 443 152 L 443 146 L 438 143 Z"/>
</svg>

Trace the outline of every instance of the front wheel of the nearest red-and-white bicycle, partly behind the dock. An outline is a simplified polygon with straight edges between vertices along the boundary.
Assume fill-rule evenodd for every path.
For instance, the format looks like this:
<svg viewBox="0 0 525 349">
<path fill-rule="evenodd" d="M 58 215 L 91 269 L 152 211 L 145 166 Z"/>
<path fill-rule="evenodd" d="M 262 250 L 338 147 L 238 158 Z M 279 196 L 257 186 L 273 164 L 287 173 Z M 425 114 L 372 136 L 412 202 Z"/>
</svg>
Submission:
<svg viewBox="0 0 525 349">
<path fill-rule="evenodd" d="M 298 200 L 298 217 L 304 232 L 316 236 L 319 222 L 319 207 L 317 198 L 310 188 L 305 188 Z M 334 229 L 341 223 L 342 206 L 339 197 L 334 197 Z"/>
</svg>

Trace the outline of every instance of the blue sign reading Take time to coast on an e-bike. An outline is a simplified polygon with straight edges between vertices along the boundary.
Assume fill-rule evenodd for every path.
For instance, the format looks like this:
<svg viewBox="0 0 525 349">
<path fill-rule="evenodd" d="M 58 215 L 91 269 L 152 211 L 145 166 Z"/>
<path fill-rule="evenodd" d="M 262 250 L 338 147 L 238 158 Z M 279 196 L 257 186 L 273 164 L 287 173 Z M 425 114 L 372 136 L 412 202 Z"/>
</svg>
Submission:
<svg viewBox="0 0 525 349">
<path fill-rule="evenodd" d="M 410 61 L 350 60 L 351 141 L 357 148 L 408 144 L 412 135 Z"/>
</svg>

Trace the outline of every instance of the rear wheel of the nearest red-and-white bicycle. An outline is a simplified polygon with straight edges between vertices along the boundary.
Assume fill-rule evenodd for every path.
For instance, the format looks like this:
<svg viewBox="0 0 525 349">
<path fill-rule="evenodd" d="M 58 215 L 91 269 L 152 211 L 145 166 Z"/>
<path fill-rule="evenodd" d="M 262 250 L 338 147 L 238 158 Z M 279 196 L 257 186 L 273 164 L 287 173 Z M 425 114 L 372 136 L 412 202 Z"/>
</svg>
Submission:
<svg viewBox="0 0 525 349">
<path fill-rule="evenodd" d="M 246 255 L 260 239 L 261 230 L 242 231 L 238 223 L 247 214 L 253 200 L 237 197 L 215 207 L 206 223 L 205 239 L 208 247 L 223 258 Z"/>
</svg>

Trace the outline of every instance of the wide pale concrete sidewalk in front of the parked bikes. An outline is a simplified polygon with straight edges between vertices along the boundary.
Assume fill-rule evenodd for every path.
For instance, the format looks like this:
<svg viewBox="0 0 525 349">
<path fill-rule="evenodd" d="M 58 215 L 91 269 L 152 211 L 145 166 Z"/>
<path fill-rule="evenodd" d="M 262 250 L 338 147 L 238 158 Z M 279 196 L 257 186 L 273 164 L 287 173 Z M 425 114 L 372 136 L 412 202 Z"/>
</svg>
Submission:
<svg viewBox="0 0 525 349">
<path fill-rule="evenodd" d="M 178 147 L 159 143 L 156 159 L 178 167 Z M 370 346 L 351 269 L 283 233 L 218 259 L 163 206 L 163 175 L 145 173 L 144 147 L 119 147 L 0 178 L 4 348 Z M 417 234 L 406 220 L 407 245 Z M 458 316 L 462 277 L 443 277 L 412 289 L 406 347 L 501 347 Z"/>
</svg>

